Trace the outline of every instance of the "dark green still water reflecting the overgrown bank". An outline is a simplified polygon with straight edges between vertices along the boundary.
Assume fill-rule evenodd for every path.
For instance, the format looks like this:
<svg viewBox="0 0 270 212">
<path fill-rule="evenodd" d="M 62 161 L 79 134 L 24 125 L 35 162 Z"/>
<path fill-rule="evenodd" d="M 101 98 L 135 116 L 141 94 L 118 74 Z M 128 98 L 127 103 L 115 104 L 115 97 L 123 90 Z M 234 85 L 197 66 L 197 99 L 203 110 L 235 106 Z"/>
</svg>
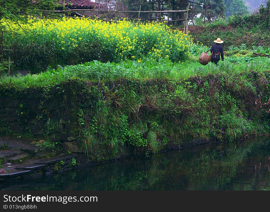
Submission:
<svg viewBox="0 0 270 212">
<path fill-rule="evenodd" d="M 259 137 L 106 163 L 0 189 L 270 190 L 269 155 L 270 138 Z"/>
</svg>

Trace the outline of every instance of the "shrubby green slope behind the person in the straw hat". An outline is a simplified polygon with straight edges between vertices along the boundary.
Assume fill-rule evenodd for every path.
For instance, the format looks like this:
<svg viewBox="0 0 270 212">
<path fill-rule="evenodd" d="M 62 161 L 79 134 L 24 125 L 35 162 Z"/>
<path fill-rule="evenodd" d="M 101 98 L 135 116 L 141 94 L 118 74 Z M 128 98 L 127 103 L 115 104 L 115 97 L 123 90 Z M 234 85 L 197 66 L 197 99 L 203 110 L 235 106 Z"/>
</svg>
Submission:
<svg viewBox="0 0 270 212">
<path fill-rule="evenodd" d="M 228 50 L 230 46 L 239 47 L 242 44 L 245 44 L 248 49 L 252 49 L 252 46 L 269 46 L 269 6 L 268 1 L 266 6 L 262 6 L 253 14 L 219 16 L 203 28 L 195 27 L 190 35 L 194 37 L 194 42 L 200 41 L 206 46 L 211 46 L 213 40 L 220 37 L 224 40 L 224 50 Z M 202 25 L 201 20 L 199 25 Z"/>
</svg>

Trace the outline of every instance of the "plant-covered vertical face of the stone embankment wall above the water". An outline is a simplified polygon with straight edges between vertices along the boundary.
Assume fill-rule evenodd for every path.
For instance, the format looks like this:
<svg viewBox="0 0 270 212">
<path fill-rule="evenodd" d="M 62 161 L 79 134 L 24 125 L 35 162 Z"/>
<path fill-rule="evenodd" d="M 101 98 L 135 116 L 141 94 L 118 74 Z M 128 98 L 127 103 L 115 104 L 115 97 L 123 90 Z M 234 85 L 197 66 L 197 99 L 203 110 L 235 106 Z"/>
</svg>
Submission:
<svg viewBox="0 0 270 212">
<path fill-rule="evenodd" d="M 0 85 L 0 134 L 46 136 L 71 152 L 82 152 L 84 145 L 104 160 L 125 148 L 158 152 L 201 145 L 211 137 L 224 141 L 263 134 L 269 117 L 255 103 L 268 107 L 268 75 L 249 77 L 261 83 L 256 92 L 245 79 L 236 83 L 237 77 L 224 76 L 221 81 L 219 75 L 186 82 L 71 79 L 31 88 L 6 83 Z M 176 85 L 181 85 L 181 95 Z"/>
</svg>

